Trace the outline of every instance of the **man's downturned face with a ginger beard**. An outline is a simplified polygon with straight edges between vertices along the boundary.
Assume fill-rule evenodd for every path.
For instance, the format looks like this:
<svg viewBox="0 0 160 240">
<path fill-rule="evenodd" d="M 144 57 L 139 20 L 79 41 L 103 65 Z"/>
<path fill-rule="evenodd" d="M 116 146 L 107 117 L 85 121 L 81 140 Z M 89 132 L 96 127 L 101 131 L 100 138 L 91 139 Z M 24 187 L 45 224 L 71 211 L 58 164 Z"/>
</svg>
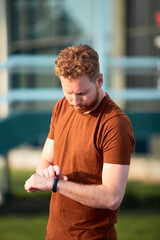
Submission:
<svg viewBox="0 0 160 240">
<path fill-rule="evenodd" d="M 64 95 L 69 104 L 79 113 L 89 112 L 99 102 L 98 83 L 91 82 L 87 76 L 70 81 L 60 77 Z"/>
</svg>

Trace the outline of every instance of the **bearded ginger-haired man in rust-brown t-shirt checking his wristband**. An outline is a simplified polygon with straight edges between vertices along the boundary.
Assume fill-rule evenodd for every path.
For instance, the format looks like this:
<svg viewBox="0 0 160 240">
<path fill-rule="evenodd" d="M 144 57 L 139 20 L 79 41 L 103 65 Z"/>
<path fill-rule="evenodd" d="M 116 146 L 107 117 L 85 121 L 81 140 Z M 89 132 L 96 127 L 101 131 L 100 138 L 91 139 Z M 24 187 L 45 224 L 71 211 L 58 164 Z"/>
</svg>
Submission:
<svg viewBox="0 0 160 240">
<path fill-rule="evenodd" d="M 53 190 L 46 239 L 116 239 L 134 137 L 126 114 L 102 89 L 97 52 L 64 49 L 55 61 L 64 98 L 55 105 L 28 192 Z"/>
</svg>

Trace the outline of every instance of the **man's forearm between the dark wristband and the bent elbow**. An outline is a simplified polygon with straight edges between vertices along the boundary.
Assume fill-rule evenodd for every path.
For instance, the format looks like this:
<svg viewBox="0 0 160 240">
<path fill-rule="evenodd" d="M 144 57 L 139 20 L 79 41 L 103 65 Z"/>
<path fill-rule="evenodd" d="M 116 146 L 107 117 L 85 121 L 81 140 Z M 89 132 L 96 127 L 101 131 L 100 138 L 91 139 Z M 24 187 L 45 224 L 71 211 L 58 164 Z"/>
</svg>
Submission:
<svg viewBox="0 0 160 240">
<path fill-rule="evenodd" d="M 121 198 L 104 185 L 83 185 L 70 181 L 58 181 L 57 191 L 72 200 L 94 208 L 115 210 Z"/>
</svg>

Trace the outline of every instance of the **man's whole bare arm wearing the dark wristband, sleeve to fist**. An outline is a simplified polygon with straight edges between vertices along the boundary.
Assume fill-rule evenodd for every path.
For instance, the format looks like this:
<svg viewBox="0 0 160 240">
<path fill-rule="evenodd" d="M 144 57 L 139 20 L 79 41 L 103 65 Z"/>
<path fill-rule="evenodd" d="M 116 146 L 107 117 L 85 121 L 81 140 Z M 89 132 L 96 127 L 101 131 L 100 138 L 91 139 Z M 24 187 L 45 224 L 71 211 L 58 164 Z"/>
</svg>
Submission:
<svg viewBox="0 0 160 240">
<path fill-rule="evenodd" d="M 50 168 L 51 170 L 51 168 Z M 115 210 L 119 207 L 125 192 L 129 166 L 119 164 L 104 164 L 102 172 L 102 185 L 78 184 L 61 177 L 57 191 L 84 205 L 95 208 Z M 50 171 L 51 172 L 51 171 Z M 43 178 L 43 179 L 42 179 Z M 39 189 L 50 191 L 53 187 L 53 178 L 33 175 L 26 182 L 25 189 Z"/>
</svg>

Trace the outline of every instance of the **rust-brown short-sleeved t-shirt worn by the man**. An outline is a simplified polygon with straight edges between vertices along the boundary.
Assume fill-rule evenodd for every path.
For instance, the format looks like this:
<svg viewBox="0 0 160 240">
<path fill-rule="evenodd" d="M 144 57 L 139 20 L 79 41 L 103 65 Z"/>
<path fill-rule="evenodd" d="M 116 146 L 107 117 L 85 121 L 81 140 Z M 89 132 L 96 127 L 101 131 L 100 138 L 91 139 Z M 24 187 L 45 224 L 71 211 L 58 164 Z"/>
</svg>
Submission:
<svg viewBox="0 0 160 240">
<path fill-rule="evenodd" d="M 128 117 L 107 94 L 89 114 L 75 112 L 62 98 L 53 109 L 48 138 L 54 139 L 54 165 L 69 181 L 82 184 L 101 184 L 103 163 L 130 164 L 134 147 Z M 118 211 L 52 193 L 46 239 L 116 239 L 112 227 Z"/>
</svg>

